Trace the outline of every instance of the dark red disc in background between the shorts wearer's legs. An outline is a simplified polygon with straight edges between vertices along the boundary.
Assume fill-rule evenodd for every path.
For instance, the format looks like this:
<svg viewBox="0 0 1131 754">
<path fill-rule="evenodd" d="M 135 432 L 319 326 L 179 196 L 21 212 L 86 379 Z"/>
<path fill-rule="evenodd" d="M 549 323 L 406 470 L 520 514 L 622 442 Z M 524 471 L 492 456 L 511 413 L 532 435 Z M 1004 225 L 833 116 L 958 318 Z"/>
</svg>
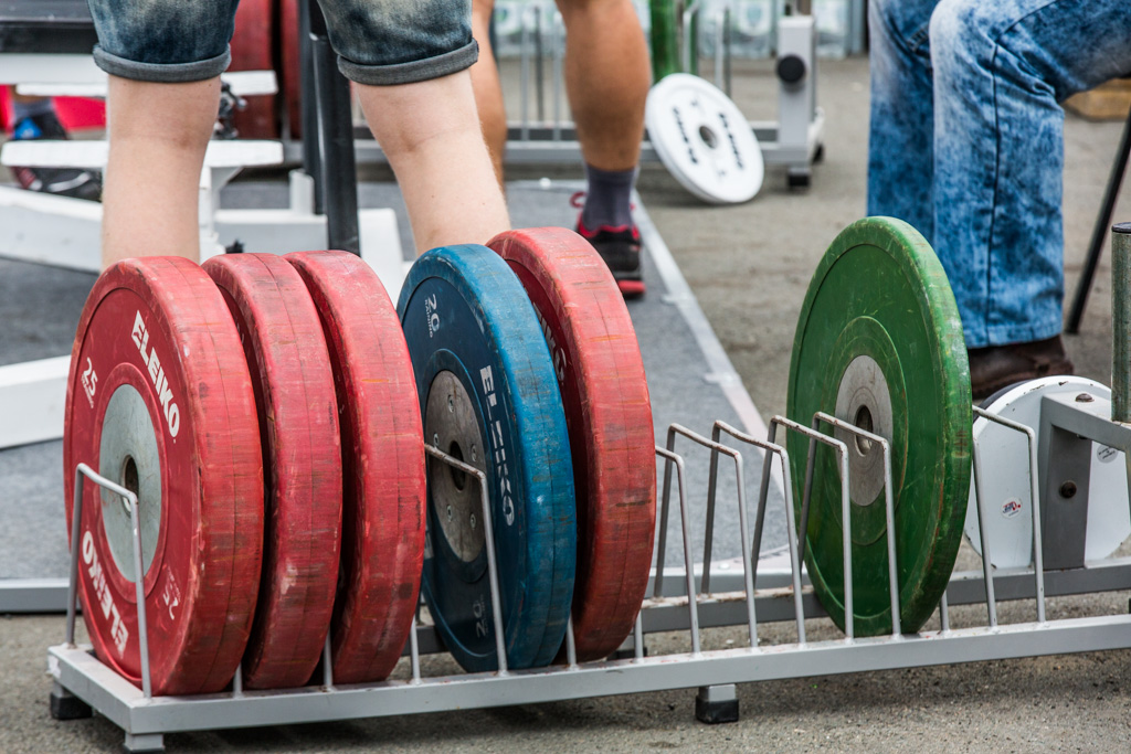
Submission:
<svg viewBox="0 0 1131 754">
<path fill-rule="evenodd" d="M 269 71 L 275 69 L 274 0 L 242 0 L 235 11 L 232 35 L 231 71 Z M 277 139 L 276 95 L 244 97 L 248 106 L 235 113 L 233 122 L 241 139 Z"/>
</svg>

